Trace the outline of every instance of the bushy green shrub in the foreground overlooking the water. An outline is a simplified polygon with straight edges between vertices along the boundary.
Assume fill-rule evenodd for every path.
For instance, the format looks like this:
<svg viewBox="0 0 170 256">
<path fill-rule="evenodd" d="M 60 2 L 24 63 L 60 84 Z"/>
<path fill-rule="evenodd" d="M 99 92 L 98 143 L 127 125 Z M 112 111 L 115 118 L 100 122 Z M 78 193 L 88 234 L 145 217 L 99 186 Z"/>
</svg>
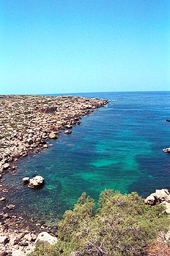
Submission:
<svg viewBox="0 0 170 256">
<path fill-rule="evenodd" d="M 94 200 L 82 193 L 73 211 L 66 211 L 59 222 L 58 243 L 31 255 L 143 255 L 146 244 L 169 226 L 162 205 L 150 207 L 134 192 L 121 195 L 105 189 L 98 204 L 94 211 Z"/>
</svg>

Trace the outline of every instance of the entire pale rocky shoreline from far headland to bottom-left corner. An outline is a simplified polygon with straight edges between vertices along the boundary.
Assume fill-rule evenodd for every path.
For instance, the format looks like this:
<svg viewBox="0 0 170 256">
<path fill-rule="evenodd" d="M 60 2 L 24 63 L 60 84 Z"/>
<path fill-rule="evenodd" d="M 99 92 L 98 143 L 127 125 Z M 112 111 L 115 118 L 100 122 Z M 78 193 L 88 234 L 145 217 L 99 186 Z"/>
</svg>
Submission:
<svg viewBox="0 0 170 256">
<path fill-rule="evenodd" d="M 75 96 L 0 95 L 0 255 L 22 256 L 35 248 L 40 232 L 56 236 L 57 227 L 26 220 L 7 205 L 8 191 L 3 175 L 15 172 L 16 162 L 30 152 L 48 148 L 47 140 L 57 139 L 61 130 L 70 134 L 81 116 L 105 106 L 108 100 Z"/>
</svg>

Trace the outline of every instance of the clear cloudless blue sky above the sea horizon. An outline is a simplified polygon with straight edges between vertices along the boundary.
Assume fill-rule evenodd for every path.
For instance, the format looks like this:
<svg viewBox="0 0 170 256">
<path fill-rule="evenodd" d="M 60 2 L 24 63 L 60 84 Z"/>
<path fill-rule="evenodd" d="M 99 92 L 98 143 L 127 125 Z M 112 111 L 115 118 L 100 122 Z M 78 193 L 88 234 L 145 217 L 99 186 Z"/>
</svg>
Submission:
<svg viewBox="0 0 170 256">
<path fill-rule="evenodd" d="M 170 0 L 1 0 L 0 94 L 170 90 Z"/>
</svg>

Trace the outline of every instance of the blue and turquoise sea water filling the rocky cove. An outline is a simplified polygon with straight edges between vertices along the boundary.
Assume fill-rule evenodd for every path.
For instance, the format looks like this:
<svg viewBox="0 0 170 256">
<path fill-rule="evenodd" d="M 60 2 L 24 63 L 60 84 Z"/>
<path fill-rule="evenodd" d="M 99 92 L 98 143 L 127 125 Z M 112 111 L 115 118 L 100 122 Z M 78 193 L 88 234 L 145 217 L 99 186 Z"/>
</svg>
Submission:
<svg viewBox="0 0 170 256">
<path fill-rule="evenodd" d="M 84 116 L 72 134 L 49 141 L 48 150 L 20 159 L 17 172 L 5 176 L 13 186 L 8 203 L 26 216 L 58 221 L 83 191 L 98 200 L 105 188 L 142 196 L 170 188 L 170 154 L 162 152 L 170 147 L 170 92 L 78 95 L 109 104 Z M 45 178 L 42 189 L 22 185 L 22 177 L 36 174 Z"/>
</svg>

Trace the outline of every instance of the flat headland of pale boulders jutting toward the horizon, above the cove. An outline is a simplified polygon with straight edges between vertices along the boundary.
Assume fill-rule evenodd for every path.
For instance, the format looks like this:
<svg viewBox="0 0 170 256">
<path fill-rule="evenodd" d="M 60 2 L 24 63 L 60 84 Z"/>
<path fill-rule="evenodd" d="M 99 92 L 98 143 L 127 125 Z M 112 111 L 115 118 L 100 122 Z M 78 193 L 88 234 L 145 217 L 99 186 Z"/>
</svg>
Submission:
<svg viewBox="0 0 170 256">
<path fill-rule="evenodd" d="M 81 124 L 81 116 L 107 102 L 75 96 L 1 95 L 0 174 L 29 152 L 48 148 L 47 140 Z"/>
</svg>

